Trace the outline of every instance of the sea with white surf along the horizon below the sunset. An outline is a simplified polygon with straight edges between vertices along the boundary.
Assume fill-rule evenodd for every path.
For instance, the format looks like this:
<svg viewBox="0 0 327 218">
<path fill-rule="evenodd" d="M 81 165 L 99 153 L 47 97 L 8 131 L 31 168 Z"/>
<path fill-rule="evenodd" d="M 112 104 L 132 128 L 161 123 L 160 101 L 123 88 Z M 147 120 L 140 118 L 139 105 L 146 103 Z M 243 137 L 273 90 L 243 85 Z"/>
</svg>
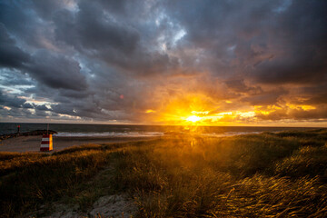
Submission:
<svg viewBox="0 0 327 218">
<path fill-rule="evenodd" d="M 33 130 L 45 130 L 47 124 L 0 123 L 0 135 Z M 262 127 L 262 126 L 179 126 L 179 125 L 129 125 L 129 124 L 49 124 L 49 129 L 58 134 L 56 137 L 104 136 L 104 137 L 154 137 L 164 134 L 195 132 L 206 136 L 223 137 L 237 134 L 260 134 L 317 129 L 310 127 Z"/>
</svg>

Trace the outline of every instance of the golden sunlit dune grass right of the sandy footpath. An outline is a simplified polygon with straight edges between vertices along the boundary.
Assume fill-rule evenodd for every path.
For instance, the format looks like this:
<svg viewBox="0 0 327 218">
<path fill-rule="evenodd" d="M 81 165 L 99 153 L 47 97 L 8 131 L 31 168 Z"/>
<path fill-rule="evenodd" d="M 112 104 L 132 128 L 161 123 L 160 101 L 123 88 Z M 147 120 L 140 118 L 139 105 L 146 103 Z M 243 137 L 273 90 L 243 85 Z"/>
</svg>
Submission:
<svg viewBox="0 0 327 218">
<path fill-rule="evenodd" d="M 279 134 L 163 141 L 125 153 L 117 180 L 140 217 L 325 217 L 325 147 Z"/>
</svg>

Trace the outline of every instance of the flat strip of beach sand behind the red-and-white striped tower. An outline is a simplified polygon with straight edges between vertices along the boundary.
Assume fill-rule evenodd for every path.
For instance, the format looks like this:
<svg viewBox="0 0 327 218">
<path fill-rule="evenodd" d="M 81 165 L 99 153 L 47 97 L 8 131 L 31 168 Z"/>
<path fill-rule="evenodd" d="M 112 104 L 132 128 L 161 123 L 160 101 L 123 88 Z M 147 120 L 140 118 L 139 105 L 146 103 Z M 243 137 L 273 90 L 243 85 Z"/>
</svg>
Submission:
<svg viewBox="0 0 327 218">
<path fill-rule="evenodd" d="M 39 152 L 42 135 L 20 136 L 0 142 L 0 152 Z M 55 137 L 54 150 L 82 144 L 111 144 L 154 139 L 154 137 Z"/>
</svg>

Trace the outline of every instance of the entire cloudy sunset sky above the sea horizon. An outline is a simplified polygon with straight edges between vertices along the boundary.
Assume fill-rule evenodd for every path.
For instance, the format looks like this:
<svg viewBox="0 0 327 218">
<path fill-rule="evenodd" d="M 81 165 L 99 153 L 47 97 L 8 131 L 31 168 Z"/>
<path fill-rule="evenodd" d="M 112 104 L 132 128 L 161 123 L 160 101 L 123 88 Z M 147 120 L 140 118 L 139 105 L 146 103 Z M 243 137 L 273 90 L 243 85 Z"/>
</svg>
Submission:
<svg viewBox="0 0 327 218">
<path fill-rule="evenodd" d="M 0 0 L 0 122 L 327 126 L 327 1 Z"/>
</svg>

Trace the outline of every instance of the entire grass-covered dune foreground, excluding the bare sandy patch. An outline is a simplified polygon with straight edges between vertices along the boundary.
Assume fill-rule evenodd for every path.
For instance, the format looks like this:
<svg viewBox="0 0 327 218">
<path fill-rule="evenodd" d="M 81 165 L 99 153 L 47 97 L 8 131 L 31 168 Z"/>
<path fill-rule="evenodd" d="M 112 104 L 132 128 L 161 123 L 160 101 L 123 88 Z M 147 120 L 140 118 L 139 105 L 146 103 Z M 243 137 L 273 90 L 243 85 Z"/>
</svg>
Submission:
<svg viewBox="0 0 327 218">
<path fill-rule="evenodd" d="M 22 216 L 61 200 L 87 211 L 128 193 L 136 217 L 326 217 L 326 141 L 322 129 L 0 154 L 0 210 Z"/>
</svg>

